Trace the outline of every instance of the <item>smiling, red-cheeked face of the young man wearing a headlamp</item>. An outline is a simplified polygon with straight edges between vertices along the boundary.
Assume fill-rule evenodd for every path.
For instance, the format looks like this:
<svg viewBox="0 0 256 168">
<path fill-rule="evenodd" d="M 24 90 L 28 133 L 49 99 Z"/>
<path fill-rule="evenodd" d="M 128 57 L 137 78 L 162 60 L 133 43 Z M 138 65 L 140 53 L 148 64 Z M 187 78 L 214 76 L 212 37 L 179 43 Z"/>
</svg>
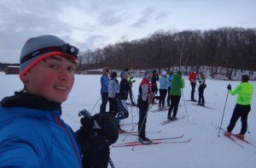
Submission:
<svg viewBox="0 0 256 168">
<path fill-rule="evenodd" d="M 51 56 L 36 64 L 21 80 L 25 83 L 26 92 L 62 103 L 73 87 L 76 66 L 67 57 Z"/>
</svg>

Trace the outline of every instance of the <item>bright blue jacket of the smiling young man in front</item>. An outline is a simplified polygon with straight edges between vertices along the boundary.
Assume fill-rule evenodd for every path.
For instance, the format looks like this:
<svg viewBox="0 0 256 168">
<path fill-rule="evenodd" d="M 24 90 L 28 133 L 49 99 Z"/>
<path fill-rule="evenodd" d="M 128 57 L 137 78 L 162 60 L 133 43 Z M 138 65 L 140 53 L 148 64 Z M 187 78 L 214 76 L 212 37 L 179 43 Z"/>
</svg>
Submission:
<svg viewBox="0 0 256 168">
<path fill-rule="evenodd" d="M 0 106 L 0 166 L 82 167 L 79 144 L 60 109 Z"/>
</svg>

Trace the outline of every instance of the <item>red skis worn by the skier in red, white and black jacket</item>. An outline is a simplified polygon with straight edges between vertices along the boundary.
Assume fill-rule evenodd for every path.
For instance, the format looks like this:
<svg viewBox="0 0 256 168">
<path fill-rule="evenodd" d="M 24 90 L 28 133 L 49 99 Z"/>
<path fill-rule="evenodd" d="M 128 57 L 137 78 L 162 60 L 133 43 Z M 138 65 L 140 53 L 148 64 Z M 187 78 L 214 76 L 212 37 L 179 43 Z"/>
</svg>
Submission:
<svg viewBox="0 0 256 168">
<path fill-rule="evenodd" d="M 112 145 L 112 147 L 113 148 L 134 147 L 134 146 L 139 146 L 139 145 L 153 145 L 153 144 L 160 144 L 160 143 L 189 143 L 189 141 L 191 141 L 191 139 L 192 139 L 192 138 L 189 138 L 188 140 L 177 141 L 177 139 L 180 139 L 183 136 L 184 136 L 184 134 L 181 136 L 177 136 L 177 137 L 154 138 L 154 139 L 151 139 L 152 143 L 147 143 L 147 144 L 143 144 L 143 143 L 140 143 L 137 141 L 130 142 L 130 143 L 119 143 L 119 144 Z M 175 141 L 173 141 L 173 140 L 175 140 Z"/>
</svg>

